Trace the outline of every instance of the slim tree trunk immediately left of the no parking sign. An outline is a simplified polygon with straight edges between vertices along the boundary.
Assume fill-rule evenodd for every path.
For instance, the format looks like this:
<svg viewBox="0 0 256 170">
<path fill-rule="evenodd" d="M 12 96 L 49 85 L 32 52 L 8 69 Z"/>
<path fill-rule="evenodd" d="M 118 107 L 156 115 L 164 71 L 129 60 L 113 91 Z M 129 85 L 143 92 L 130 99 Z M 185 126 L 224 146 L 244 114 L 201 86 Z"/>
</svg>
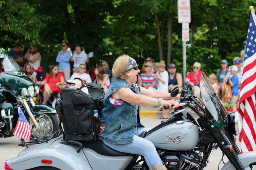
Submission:
<svg viewBox="0 0 256 170">
<path fill-rule="evenodd" d="M 173 5 L 173 0 L 170 1 L 171 6 Z M 167 20 L 168 25 L 168 49 L 167 49 L 167 67 L 172 62 L 171 53 L 172 53 L 172 21 L 173 15 L 170 12 Z"/>
</svg>

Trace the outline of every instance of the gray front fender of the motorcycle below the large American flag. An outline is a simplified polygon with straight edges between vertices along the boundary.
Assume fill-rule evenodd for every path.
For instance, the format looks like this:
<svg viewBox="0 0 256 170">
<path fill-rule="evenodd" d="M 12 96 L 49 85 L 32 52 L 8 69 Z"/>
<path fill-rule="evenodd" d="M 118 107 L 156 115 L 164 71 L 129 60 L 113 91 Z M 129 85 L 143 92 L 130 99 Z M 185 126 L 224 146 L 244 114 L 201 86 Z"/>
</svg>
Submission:
<svg viewBox="0 0 256 170">
<path fill-rule="evenodd" d="M 245 170 L 251 170 L 250 164 L 256 164 L 256 152 L 246 152 L 238 155 L 238 159 L 240 160 L 241 164 L 245 168 Z M 221 170 L 234 170 L 235 167 L 231 162 L 227 162 Z"/>
</svg>

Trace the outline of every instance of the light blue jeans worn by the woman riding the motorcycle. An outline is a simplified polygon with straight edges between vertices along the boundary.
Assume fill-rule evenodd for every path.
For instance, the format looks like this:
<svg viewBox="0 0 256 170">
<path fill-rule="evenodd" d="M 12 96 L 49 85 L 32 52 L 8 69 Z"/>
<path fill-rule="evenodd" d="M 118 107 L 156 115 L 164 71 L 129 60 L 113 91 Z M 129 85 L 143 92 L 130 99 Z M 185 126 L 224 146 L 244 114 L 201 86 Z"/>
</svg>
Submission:
<svg viewBox="0 0 256 170">
<path fill-rule="evenodd" d="M 105 141 L 103 142 L 105 145 L 116 151 L 142 155 L 145 158 L 148 167 L 156 163 L 163 164 L 162 160 L 158 156 L 158 153 L 156 152 L 155 145 L 151 141 L 137 136 L 145 130 L 148 131 L 150 128 L 137 127 L 132 143 L 112 144 Z"/>
</svg>

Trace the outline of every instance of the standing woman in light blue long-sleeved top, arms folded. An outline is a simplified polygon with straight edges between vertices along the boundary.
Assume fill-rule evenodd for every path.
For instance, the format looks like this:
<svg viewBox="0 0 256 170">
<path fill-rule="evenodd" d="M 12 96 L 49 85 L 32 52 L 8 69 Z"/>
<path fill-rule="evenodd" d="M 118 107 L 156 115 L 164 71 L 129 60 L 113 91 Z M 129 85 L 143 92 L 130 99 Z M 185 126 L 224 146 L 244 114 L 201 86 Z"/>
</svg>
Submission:
<svg viewBox="0 0 256 170">
<path fill-rule="evenodd" d="M 68 51 L 69 44 L 62 43 L 62 50 L 58 53 L 56 57 L 56 62 L 59 63 L 59 71 L 64 73 L 65 79 L 70 78 L 70 63 L 71 52 Z"/>
</svg>

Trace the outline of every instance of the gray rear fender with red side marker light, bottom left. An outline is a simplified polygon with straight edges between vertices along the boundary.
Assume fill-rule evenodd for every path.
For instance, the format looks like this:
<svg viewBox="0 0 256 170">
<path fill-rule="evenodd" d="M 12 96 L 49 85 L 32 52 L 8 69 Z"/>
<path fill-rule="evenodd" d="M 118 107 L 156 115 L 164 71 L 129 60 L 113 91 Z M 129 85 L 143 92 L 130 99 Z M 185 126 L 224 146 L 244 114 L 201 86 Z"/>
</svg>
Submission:
<svg viewBox="0 0 256 170">
<path fill-rule="evenodd" d="M 74 152 L 70 152 L 62 148 L 31 148 L 25 154 L 8 159 L 6 162 L 8 166 L 15 170 L 41 166 L 56 167 L 63 170 L 92 170 L 83 152 L 77 153 L 75 149 Z M 52 160 L 52 164 L 42 163 L 42 159 Z"/>
</svg>

